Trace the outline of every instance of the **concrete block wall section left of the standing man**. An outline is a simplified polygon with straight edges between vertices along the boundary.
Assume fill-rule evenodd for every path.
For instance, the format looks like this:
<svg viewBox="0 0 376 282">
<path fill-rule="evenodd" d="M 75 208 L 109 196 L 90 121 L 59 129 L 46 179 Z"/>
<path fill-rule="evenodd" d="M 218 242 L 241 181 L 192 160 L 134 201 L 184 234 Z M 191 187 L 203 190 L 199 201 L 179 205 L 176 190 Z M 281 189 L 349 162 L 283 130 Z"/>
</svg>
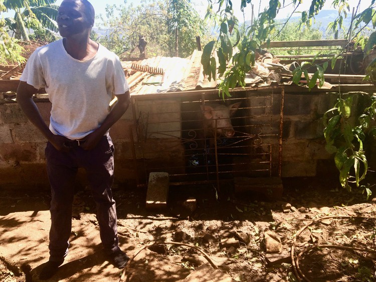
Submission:
<svg viewBox="0 0 376 282">
<path fill-rule="evenodd" d="M 38 103 L 49 121 L 50 103 Z M 0 104 L 0 187 L 48 187 L 44 136 L 16 103 Z"/>
</svg>

